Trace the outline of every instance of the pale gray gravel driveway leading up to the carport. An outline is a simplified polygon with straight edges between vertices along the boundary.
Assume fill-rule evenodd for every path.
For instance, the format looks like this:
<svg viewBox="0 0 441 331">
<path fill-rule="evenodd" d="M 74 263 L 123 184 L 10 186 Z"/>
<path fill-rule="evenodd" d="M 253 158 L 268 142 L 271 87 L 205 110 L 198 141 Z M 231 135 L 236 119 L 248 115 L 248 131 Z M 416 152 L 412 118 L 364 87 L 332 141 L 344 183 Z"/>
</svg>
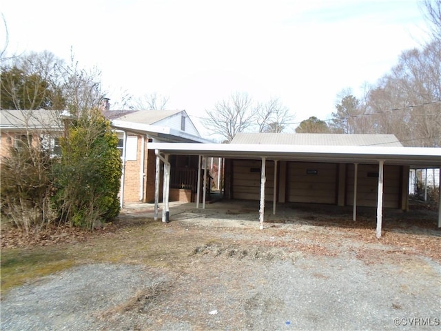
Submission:
<svg viewBox="0 0 441 331">
<path fill-rule="evenodd" d="M 441 265 L 424 254 L 338 227 L 258 231 L 240 210 L 172 216 L 164 235 L 212 236 L 189 244 L 185 268 L 99 263 L 43 277 L 2 298 L 1 330 L 440 330 Z M 312 232 L 332 235 L 316 245 Z"/>
</svg>

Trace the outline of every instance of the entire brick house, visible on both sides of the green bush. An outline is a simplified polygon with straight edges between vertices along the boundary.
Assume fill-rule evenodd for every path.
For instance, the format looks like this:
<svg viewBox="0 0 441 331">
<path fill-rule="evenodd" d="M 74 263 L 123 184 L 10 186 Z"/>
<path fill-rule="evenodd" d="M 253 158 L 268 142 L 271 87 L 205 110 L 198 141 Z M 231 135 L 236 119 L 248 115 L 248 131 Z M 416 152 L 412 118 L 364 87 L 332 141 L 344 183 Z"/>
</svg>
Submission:
<svg viewBox="0 0 441 331">
<path fill-rule="evenodd" d="M 156 156 L 149 143 L 204 143 L 185 110 L 103 110 L 119 137 L 123 176 L 121 206 L 125 203 L 153 202 L 155 197 Z M 1 154 L 23 143 L 42 143 L 59 152 L 67 113 L 59 110 L 1 110 Z M 174 177 L 170 182 L 176 201 L 194 201 L 198 157 L 172 157 Z"/>
</svg>

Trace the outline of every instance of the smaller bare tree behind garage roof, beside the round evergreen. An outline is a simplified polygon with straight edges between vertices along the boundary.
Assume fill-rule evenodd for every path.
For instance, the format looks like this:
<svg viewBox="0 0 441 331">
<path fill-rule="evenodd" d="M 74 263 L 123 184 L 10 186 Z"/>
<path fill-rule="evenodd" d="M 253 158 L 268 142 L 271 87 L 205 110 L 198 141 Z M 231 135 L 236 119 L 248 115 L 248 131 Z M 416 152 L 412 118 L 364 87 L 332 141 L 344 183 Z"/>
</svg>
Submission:
<svg viewBox="0 0 441 331">
<path fill-rule="evenodd" d="M 259 132 L 280 133 L 294 119 L 289 109 L 278 98 L 272 98 L 258 108 L 257 123 Z"/>
</svg>

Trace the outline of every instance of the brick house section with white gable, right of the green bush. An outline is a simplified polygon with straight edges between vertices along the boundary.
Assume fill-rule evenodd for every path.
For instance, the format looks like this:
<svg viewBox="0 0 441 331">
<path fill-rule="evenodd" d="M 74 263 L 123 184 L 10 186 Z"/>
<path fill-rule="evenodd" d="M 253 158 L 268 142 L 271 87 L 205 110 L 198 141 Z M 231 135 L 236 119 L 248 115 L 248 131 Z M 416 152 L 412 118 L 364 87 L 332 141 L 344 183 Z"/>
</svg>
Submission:
<svg viewBox="0 0 441 331">
<path fill-rule="evenodd" d="M 207 143 L 185 110 L 106 110 L 112 127 L 119 135 L 123 163 L 121 205 L 155 201 L 156 165 L 150 143 Z M 170 158 L 172 179 L 170 200 L 194 202 L 196 197 L 197 156 L 180 155 Z M 159 192 L 161 199 L 162 192 Z"/>
</svg>

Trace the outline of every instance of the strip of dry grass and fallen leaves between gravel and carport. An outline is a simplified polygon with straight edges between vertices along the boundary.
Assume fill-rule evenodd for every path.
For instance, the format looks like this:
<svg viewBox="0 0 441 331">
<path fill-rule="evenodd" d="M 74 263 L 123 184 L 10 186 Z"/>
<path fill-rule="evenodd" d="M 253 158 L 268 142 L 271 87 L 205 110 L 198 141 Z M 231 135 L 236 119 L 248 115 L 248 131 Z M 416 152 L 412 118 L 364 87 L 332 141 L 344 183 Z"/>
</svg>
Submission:
<svg viewBox="0 0 441 331">
<path fill-rule="evenodd" d="M 204 222 L 208 224 L 209 218 Z M 412 223 L 387 221 L 380 239 L 375 237 L 375 223 L 362 217 L 353 222 L 319 215 L 314 220 L 267 223 L 263 231 L 257 226 L 163 224 L 139 212 L 96 232 L 52 228 L 28 238 L 17 230 L 2 230 L 1 291 L 83 263 L 132 263 L 184 272 L 196 254 L 292 261 L 307 254 L 352 254 L 367 264 L 405 262 L 406 257 L 418 255 L 441 262 L 440 230 L 424 218 Z"/>
</svg>

